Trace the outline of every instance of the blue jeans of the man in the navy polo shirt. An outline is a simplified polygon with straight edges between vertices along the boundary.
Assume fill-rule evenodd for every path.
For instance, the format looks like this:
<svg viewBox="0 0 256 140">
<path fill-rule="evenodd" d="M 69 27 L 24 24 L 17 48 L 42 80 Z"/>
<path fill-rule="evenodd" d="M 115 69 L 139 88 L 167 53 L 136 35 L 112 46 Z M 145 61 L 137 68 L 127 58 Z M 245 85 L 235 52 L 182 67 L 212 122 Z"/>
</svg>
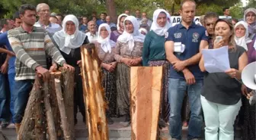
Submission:
<svg viewBox="0 0 256 140">
<path fill-rule="evenodd" d="M 203 126 L 202 106 L 200 101 L 202 86 L 203 80 L 197 80 L 194 85 L 187 85 L 185 79 L 169 78 L 168 95 L 169 104 L 171 106 L 169 130 L 171 138 L 181 139 L 181 107 L 186 91 L 191 111 L 187 139 L 200 138 Z"/>
</svg>

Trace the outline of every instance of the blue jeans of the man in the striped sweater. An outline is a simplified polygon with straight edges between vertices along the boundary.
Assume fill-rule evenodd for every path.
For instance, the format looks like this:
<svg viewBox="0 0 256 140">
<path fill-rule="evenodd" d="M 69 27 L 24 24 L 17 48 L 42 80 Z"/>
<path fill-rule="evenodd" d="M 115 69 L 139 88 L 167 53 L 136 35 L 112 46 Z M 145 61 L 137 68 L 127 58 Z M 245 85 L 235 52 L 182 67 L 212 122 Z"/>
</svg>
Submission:
<svg viewBox="0 0 256 140">
<path fill-rule="evenodd" d="M 30 91 L 33 88 L 34 79 L 16 81 L 14 89 L 14 123 L 21 123 L 27 106 Z"/>
</svg>

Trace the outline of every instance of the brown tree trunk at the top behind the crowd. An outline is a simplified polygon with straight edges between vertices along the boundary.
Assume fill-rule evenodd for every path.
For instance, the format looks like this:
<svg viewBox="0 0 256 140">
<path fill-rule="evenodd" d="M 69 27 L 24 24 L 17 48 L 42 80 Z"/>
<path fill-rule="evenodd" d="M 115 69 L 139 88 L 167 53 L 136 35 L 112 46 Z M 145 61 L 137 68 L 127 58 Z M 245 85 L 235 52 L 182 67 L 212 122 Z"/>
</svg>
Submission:
<svg viewBox="0 0 256 140">
<path fill-rule="evenodd" d="M 106 0 L 107 15 L 111 17 L 113 23 L 117 23 L 117 8 L 114 0 Z"/>
</svg>

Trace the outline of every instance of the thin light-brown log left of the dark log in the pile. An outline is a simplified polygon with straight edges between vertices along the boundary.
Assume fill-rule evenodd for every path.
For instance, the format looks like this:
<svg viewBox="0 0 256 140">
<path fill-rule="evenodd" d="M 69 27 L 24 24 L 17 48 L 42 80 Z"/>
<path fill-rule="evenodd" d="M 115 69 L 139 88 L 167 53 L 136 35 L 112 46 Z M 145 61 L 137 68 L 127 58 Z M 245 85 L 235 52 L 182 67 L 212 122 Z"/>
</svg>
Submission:
<svg viewBox="0 0 256 140">
<path fill-rule="evenodd" d="M 50 140 L 57 140 L 57 135 L 56 135 L 56 129 L 55 129 L 55 124 L 53 120 L 53 111 L 50 106 L 50 93 L 49 93 L 49 84 L 48 81 L 43 83 L 43 92 L 44 92 L 44 106 L 46 109 L 46 121 L 47 121 L 47 129 L 49 132 L 49 137 Z"/>
</svg>

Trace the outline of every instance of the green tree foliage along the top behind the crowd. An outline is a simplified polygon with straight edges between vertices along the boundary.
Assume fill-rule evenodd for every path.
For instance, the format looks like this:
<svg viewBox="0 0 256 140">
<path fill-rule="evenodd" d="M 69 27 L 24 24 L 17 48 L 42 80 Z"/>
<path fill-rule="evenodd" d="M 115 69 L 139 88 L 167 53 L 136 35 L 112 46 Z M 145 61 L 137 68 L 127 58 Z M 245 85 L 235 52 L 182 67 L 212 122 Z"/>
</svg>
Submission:
<svg viewBox="0 0 256 140">
<path fill-rule="evenodd" d="M 253 0 L 251 0 L 253 1 Z M 18 8 L 25 3 L 37 5 L 38 3 L 45 2 L 50 5 L 52 11 L 62 14 L 75 14 L 77 16 L 90 15 L 92 11 L 97 11 L 98 14 L 105 12 L 105 0 L 1 0 L 0 8 L 2 5 L 4 14 L 1 17 L 11 17 Z M 174 13 L 177 13 L 181 0 L 114 0 L 116 4 L 117 14 L 123 13 L 128 9 L 135 14 L 135 10 L 145 11 L 152 17 L 156 8 L 165 8 L 170 11 L 174 4 Z M 239 0 L 196 0 L 197 2 L 197 15 L 205 14 L 207 11 L 215 11 L 222 14 L 222 8 L 231 7 L 239 2 Z"/>
</svg>

